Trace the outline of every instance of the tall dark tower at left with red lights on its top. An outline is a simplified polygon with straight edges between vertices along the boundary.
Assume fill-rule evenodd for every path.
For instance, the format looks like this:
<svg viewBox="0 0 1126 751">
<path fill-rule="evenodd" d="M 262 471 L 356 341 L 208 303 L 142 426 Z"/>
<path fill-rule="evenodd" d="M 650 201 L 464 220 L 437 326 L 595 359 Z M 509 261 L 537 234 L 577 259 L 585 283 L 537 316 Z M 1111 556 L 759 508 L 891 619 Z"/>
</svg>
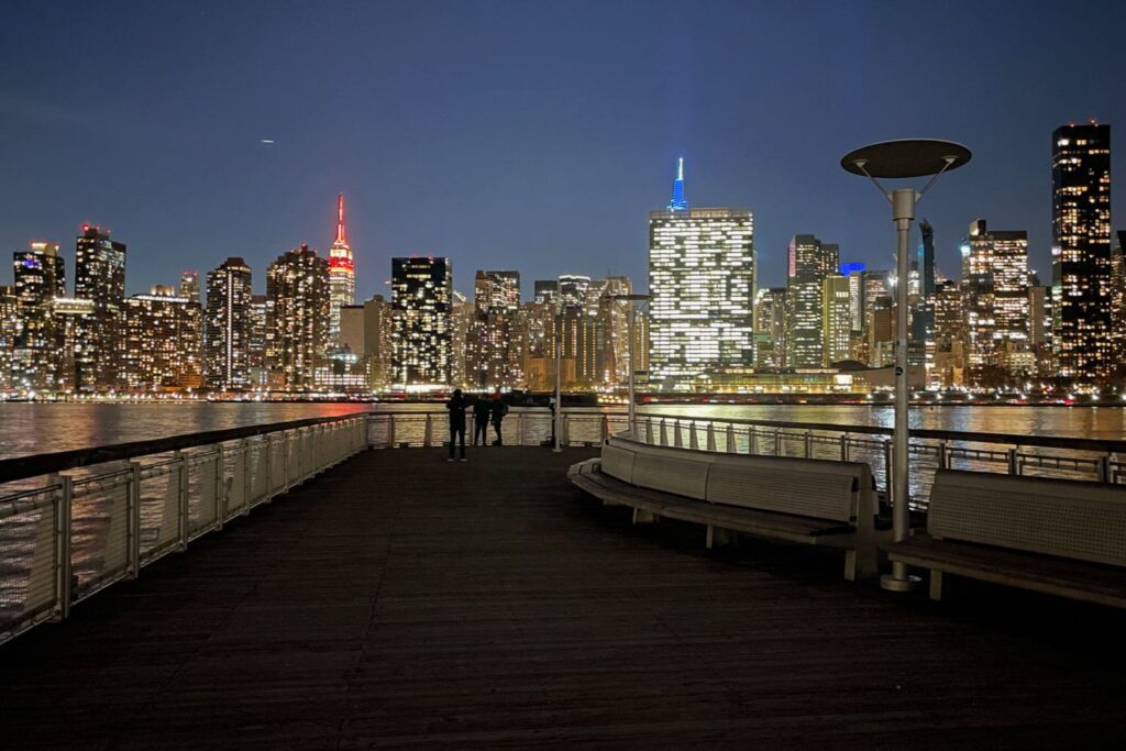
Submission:
<svg viewBox="0 0 1126 751">
<path fill-rule="evenodd" d="M 74 357 L 75 388 L 109 391 L 120 383 L 125 349 L 125 243 L 109 230 L 82 225 L 75 241 L 74 297 L 93 303 L 83 319 L 83 350 Z"/>
</svg>

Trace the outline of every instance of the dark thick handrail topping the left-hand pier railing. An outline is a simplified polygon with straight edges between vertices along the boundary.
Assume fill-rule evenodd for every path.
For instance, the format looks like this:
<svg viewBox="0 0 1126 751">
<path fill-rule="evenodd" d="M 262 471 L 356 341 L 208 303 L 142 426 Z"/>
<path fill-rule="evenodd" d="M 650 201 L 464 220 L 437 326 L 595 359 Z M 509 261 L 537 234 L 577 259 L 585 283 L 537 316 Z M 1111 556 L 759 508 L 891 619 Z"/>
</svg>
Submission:
<svg viewBox="0 0 1126 751">
<path fill-rule="evenodd" d="M 269 422 L 265 424 L 243 426 L 241 428 L 225 428 L 223 430 L 208 430 L 206 432 L 190 432 L 178 436 L 167 436 L 164 438 L 152 438 L 149 440 L 135 440 L 127 444 L 110 444 L 107 446 L 95 446 L 92 448 L 75 448 L 69 452 L 54 452 L 52 454 L 29 454 L 27 456 L 15 456 L 0 459 L 0 483 L 37 477 L 39 475 L 62 472 L 64 470 L 77 470 L 92 464 L 105 462 L 118 462 L 132 459 L 150 454 L 164 454 L 167 452 L 178 452 L 196 446 L 209 444 L 221 444 L 227 440 L 240 438 L 252 438 L 265 436 L 282 430 L 293 430 L 295 428 L 307 428 L 311 426 L 324 424 L 329 422 L 340 422 L 341 420 L 352 420 L 358 417 L 367 417 L 372 412 L 357 411 L 348 414 L 337 414 L 327 418 L 304 418 L 301 420 L 287 420 L 285 422 Z"/>
</svg>

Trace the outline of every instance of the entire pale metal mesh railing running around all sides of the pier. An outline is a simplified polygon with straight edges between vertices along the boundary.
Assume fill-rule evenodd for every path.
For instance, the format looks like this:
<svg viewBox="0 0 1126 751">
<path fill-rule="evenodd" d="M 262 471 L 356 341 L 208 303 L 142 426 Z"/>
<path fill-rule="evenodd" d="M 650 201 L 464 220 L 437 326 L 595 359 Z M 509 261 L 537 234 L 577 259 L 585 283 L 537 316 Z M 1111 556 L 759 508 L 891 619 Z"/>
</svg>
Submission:
<svg viewBox="0 0 1126 751">
<path fill-rule="evenodd" d="M 357 452 L 445 445 L 446 419 L 379 410 L 0 461 L 0 643 Z M 624 410 L 564 410 L 560 423 L 562 446 L 631 428 Z M 552 428 L 548 410 L 515 409 L 501 438 L 549 446 Z M 879 427 L 640 413 L 632 428 L 662 446 L 867 462 L 885 498 L 894 464 L 891 429 Z M 910 450 L 919 510 L 939 467 L 1126 485 L 1126 441 L 913 430 Z"/>
</svg>

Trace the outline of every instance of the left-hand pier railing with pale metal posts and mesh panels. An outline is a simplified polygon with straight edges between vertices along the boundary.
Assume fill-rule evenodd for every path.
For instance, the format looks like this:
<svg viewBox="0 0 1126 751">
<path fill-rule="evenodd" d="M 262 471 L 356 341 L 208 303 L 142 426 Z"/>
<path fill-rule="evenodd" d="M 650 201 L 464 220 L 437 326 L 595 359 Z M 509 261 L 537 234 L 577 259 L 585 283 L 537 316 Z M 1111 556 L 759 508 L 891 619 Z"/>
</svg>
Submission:
<svg viewBox="0 0 1126 751">
<path fill-rule="evenodd" d="M 79 452 L 8 461 L 0 485 L 0 643 L 46 620 L 197 537 L 366 449 L 365 414 L 179 437 L 182 448 L 91 464 Z M 163 448 L 169 441 L 150 441 Z M 110 449 L 91 449 L 95 456 Z M 6 491 L 7 489 L 7 491 Z"/>
</svg>

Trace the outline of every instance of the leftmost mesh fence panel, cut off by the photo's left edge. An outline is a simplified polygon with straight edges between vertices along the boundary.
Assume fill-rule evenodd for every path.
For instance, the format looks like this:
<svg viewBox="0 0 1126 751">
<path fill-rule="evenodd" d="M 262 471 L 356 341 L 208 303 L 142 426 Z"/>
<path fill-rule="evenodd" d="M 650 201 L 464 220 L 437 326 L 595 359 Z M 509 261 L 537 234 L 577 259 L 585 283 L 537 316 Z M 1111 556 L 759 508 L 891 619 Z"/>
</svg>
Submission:
<svg viewBox="0 0 1126 751">
<path fill-rule="evenodd" d="M 0 642 L 56 606 L 57 483 L 0 499 Z"/>
</svg>

